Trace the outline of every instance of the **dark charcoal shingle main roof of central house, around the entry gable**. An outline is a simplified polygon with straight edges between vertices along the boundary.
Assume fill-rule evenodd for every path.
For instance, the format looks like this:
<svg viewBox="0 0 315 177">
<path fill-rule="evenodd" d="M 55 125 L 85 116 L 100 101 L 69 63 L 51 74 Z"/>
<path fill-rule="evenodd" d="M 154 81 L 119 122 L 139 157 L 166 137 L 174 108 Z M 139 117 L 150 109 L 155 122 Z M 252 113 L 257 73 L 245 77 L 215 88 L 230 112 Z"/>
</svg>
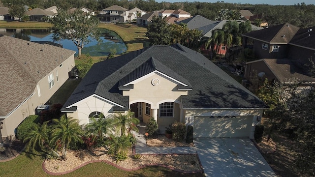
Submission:
<svg viewBox="0 0 315 177">
<path fill-rule="evenodd" d="M 266 107 L 254 94 L 202 54 L 179 44 L 151 46 L 150 48 L 95 63 L 66 101 L 64 107 L 68 107 L 92 94 L 97 94 L 119 105 L 128 107 L 128 97 L 122 96 L 121 90 L 118 89 L 119 81 L 137 68 L 141 68 L 140 66 L 150 59 L 156 60 L 157 68 L 162 65 L 168 68 L 163 72 L 172 72 L 173 77 L 178 75 L 185 78 L 192 86 L 192 90 L 188 91 L 188 96 L 181 96 L 183 108 Z M 160 65 L 157 64 L 158 62 Z M 149 67 L 149 63 L 147 63 L 147 67 Z M 151 63 L 153 64 L 154 61 L 152 60 Z"/>
</svg>

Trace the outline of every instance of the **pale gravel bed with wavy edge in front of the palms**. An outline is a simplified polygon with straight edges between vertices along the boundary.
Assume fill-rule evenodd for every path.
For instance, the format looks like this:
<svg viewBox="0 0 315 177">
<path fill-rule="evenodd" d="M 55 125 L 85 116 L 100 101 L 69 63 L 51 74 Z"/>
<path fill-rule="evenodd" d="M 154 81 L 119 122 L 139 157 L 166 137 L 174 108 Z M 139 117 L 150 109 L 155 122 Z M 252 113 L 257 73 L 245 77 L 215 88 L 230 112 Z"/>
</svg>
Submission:
<svg viewBox="0 0 315 177">
<path fill-rule="evenodd" d="M 117 165 L 126 169 L 133 169 L 143 165 L 162 164 L 183 171 L 201 170 L 197 155 L 195 154 L 141 155 L 140 159 L 134 159 L 132 156 L 132 154 L 129 154 L 126 160 L 119 161 Z M 107 160 L 116 164 L 116 161 L 107 154 L 107 151 L 101 148 L 95 149 L 94 154 L 84 150 L 68 151 L 66 160 L 46 160 L 44 165 L 52 173 L 62 173 L 73 170 L 92 160 Z"/>
</svg>

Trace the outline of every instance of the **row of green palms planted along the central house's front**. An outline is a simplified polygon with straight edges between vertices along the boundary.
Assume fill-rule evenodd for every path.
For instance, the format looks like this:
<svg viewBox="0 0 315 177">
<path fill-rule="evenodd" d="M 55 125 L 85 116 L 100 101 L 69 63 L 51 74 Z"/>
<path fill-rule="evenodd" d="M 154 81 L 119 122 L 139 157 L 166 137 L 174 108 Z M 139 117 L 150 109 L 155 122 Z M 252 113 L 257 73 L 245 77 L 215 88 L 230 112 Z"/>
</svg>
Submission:
<svg viewBox="0 0 315 177">
<path fill-rule="evenodd" d="M 41 150 L 46 157 L 66 160 L 66 152 L 71 146 L 86 145 L 93 150 L 95 147 L 104 146 L 109 153 L 115 155 L 135 144 L 131 130 L 138 131 L 136 124 L 139 119 L 134 118 L 134 113 L 117 113 L 112 118 L 91 118 L 91 123 L 85 126 L 79 124 L 74 118 L 52 119 L 40 123 L 33 123 L 31 131 L 23 140 L 26 151 Z M 86 138 L 87 137 L 87 138 Z M 58 152 L 61 151 L 60 155 Z"/>
</svg>

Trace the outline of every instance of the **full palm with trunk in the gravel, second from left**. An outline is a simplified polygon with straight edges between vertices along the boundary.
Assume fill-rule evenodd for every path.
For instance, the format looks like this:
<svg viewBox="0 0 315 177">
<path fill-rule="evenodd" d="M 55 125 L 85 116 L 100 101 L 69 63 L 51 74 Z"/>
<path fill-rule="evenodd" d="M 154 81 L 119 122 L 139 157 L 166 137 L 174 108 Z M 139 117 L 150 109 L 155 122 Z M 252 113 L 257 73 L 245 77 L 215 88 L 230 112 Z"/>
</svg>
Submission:
<svg viewBox="0 0 315 177">
<path fill-rule="evenodd" d="M 56 148 L 61 145 L 63 159 L 66 159 L 66 151 L 71 142 L 83 142 L 81 139 L 82 129 L 79 125 L 79 121 L 74 118 L 67 118 L 63 115 L 61 118 L 54 118 L 53 122 L 56 124 L 52 130 L 51 145 L 55 145 Z"/>
</svg>

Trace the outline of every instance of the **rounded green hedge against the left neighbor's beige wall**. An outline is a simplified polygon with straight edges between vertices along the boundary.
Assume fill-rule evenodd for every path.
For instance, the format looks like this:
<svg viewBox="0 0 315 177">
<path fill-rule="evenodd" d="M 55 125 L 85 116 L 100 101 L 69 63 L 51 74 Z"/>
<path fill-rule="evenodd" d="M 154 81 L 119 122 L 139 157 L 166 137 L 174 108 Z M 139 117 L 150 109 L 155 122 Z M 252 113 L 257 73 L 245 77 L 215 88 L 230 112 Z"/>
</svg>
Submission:
<svg viewBox="0 0 315 177">
<path fill-rule="evenodd" d="M 16 139 L 23 142 L 25 136 L 30 132 L 33 123 L 37 123 L 39 117 L 37 115 L 31 115 L 25 118 L 16 128 Z"/>
</svg>

